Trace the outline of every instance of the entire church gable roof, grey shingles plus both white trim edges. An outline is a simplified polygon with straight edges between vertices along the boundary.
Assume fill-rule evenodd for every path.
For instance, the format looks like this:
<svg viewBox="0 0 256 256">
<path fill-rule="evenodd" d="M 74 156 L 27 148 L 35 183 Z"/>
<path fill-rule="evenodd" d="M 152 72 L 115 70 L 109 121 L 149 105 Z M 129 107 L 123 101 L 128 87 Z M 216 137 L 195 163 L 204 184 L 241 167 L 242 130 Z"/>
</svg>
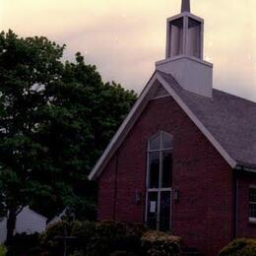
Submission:
<svg viewBox="0 0 256 256">
<path fill-rule="evenodd" d="M 147 102 L 162 86 L 234 168 L 256 168 L 256 103 L 214 90 L 213 97 L 183 90 L 170 75 L 156 71 L 108 147 L 96 162 L 89 179 L 96 179 L 121 145 Z"/>
</svg>

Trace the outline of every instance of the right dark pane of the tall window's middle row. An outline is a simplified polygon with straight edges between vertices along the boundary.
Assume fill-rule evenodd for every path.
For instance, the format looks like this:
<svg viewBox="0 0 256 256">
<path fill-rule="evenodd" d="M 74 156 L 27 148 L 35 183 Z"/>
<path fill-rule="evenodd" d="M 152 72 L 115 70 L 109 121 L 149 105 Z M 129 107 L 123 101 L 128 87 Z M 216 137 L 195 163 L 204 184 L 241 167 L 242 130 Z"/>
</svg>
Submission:
<svg viewBox="0 0 256 256">
<path fill-rule="evenodd" d="M 171 187 L 172 182 L 172 152 L 162 152 L 162 178 L 161 187 Z"/>
</svg>

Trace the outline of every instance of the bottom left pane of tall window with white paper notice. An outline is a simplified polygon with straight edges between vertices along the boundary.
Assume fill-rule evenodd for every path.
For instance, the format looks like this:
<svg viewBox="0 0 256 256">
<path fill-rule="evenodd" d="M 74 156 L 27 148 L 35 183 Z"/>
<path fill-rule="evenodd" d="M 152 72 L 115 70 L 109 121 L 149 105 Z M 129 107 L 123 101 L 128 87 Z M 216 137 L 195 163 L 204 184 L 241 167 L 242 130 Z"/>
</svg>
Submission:
<svg viewBox="0 0 256 256">
<path fill-rule="evenodd" d="M 158 192 L 149 192 L 147 224 L 151 229 L 157 229 L 158 224 Z"/>
</svg>

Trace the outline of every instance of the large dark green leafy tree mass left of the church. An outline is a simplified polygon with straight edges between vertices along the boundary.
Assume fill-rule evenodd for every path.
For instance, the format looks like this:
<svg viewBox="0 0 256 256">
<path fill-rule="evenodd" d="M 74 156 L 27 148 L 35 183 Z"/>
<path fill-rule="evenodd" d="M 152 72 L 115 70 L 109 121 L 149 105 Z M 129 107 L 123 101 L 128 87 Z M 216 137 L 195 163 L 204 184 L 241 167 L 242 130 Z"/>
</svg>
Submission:
<svg viewBox="0 0 256 256">
<path fill-rule="evenodd" d="M 136 99 L 104 84 L 79 53 L 63 63 L 63 50 L 45 37 L 0 34 L 0 206 L 9 213 L 8 241 L 26 205 L 46 216 L 68 206 L 89 218 L 95 194 L 87 175 Z"/>
</svg>

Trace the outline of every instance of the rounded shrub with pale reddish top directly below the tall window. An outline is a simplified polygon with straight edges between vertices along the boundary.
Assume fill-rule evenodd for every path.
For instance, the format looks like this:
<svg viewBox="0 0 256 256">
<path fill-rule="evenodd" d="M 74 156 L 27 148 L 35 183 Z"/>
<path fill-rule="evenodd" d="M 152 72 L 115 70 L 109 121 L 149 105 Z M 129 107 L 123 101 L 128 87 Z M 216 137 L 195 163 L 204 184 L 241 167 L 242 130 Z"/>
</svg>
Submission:
<svg viewBox="0 0 256 256">
<path fill-rule="evenodd" d="M 142 250 L 145 255 L 180 255 L 180 237 L 160 231 L 148 231 L 142 238 Z"/>
</svg>

